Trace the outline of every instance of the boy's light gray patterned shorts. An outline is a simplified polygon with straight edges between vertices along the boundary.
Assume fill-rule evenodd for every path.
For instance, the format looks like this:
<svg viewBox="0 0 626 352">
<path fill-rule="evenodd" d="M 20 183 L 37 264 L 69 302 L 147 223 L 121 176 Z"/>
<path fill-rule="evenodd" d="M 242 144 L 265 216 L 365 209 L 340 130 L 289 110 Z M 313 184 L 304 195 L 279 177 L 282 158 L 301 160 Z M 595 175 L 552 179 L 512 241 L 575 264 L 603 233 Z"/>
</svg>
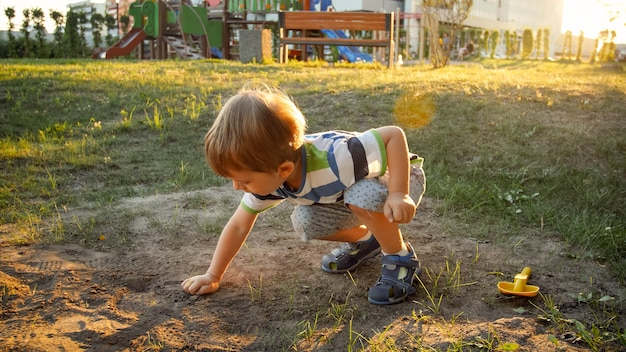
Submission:
<svg viewBox="0 0 626 352">
<path fill-rule="evenodd" d="M 362 225 L 346 204 L 382 213 L 387 200 L 388 181 L 388 173 L 378 178 L 361 180 L 346 189 L 343 202 L 297 205 L 291 214 L 294 230 L 303 241 L 308 241 Z M 425 190 L 424 170 L 421 165 L 412 166 L 409 195 L 416 205 L 419 205 Z"/>
</svg>

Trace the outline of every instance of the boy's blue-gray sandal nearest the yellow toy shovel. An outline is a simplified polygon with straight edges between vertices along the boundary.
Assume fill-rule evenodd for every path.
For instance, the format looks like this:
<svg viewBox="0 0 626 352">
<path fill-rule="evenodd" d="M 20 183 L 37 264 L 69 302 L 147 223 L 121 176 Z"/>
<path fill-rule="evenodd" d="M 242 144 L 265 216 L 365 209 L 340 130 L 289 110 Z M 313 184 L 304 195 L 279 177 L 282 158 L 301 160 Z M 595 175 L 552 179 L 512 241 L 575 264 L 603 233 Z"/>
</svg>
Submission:
<svg viewBox="0 0 626 352">
<path fill-rule="evenodd" d="M 376 284 L 370 287 L 368 301 L 373 304 L 394 304 L 402 302 L 408 295 L 416 292 L 413 279 L 420 272 L 420 262 L 417 260 L 411 244 L 407 243 L 410 253 L 405 256 L 385 255 L 382 257 L 382 275 Z M 394 268 L 393 270 L 389 267 Z M 401 270 L 404 268 L 404 270 Z M 401 271 L 404 273 L 401 274 Z M 402 275 L 402 278 L 400 276 Z"/>
</svg>

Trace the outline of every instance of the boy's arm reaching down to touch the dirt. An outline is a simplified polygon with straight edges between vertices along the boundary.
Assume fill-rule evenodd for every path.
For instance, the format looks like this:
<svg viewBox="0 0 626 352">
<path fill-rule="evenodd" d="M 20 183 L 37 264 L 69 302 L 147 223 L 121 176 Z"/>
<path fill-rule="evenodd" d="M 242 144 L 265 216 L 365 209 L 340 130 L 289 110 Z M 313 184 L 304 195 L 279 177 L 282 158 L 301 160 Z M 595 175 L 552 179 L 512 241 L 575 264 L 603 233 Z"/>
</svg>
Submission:
<svg viewBox="0 0 626 352">
<path fill-rule="evenodd" d="M 247 212 L 239 205 L 222 229 L 209 269 L 203 275 L 185 279 L 181 284 L 185 292 L 192 295 L 204 295 L 217 291 L 226 268 L 243 246 L 256 218 L 256 214 Z"/>
</svg>

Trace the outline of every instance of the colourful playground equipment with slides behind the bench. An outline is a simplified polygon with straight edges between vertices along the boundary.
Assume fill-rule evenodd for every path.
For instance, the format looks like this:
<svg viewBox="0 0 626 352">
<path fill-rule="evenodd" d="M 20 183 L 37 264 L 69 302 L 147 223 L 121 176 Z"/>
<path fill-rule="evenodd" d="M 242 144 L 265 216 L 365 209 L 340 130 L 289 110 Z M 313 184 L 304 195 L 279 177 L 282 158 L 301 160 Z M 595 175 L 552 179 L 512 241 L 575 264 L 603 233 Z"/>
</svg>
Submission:
<svg viewBox="0 0 626 352">
<path fill-rule="evenodd" d="M 239 30 L 277 28 L 279 13 L 298 11 L 313 15 L 314 11 L 326 13 L 331 7 L 332 0 L 205 0 L 199 6 L 190 5 L 188 0 L 137 0 L 129 8 L 133 19 L 130 32 L 99 56 L 112 59 L 137 49 L 141 59 L 238 59 Z M 292 32 L 306 36 L 310 31 L 303 29 Z M 323 45 L 332 45 L 336 48 L 335 59 L 373 61 L 371 55 L 357 48 L 368 46 L 366 40 L 350 39 L 344 29 L 350 28 L 316 29 L 317 35 L 326 38 L 325 42 L 297 44 L 294 51 L 306 52 L 312 45 L 323 51 Z M 391 42 L 393 38 L 387 39 Z M 388 44 L 378 46 L 390 48 Z M 304 60 L 307 56 L 301 55 Z"/>
</svg>

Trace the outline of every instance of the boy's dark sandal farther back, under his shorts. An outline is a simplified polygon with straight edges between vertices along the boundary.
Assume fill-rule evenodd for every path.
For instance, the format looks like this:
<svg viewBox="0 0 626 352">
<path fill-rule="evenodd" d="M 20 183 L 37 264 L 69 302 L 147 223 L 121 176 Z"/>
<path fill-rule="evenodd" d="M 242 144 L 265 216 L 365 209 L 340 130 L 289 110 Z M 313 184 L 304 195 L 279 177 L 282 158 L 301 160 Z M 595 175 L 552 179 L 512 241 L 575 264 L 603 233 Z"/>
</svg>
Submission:
<svg viewBox="0 0 626 352">
<path fill-rule="evenodd" d="M 347 242 L 322 257 L 322 270 L 333 274 L 345 273 L 378 253 L 380 253 L 380 244 L 374 236 L 365 241 Z"/>
</svg>

